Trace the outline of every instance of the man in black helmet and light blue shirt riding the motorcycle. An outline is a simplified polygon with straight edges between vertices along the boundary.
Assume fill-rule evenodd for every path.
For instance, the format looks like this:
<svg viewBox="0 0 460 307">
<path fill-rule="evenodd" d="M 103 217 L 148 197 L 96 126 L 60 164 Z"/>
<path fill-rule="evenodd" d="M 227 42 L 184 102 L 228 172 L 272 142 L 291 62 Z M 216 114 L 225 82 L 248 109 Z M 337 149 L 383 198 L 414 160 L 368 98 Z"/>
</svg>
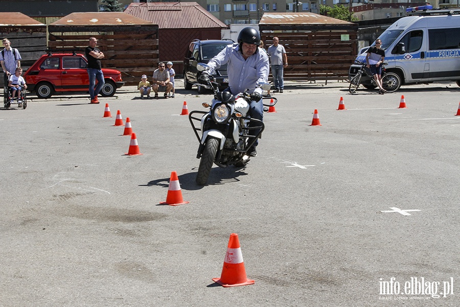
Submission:
<svg viewBox="0 0 460 307">
<path fill-rule="evenodd" d="M 201 80 L 209 80 L 210 74 L 213 74 L 221 65 L 227 64 L 228 73 L 228 91 L 233 95 L 244 92 L 246 89 L 254 89 L 250 94 L 248 115 L 251 118 L 263 120 L 264 106 L 262 103 L 262 89 L 257 84 L 268 83 L 268 56 L 265 52 L 259 51 L 260 34 L 254 28 L 246 27 L 240 31 L 238 42 L 228 45 L 218 55 L 213 57 L 208 65 L 211 70 L 201 73 Z M 249 123 L 250 126 L 250 123 Z M 256 136 L 259 131 L 251 129 L 250 134 Z M 255 157 L 257 155 L 256 146 L 259 141 L 256 140 L 254 145 L 249 148 L 248 155 Z"/>
</svg>

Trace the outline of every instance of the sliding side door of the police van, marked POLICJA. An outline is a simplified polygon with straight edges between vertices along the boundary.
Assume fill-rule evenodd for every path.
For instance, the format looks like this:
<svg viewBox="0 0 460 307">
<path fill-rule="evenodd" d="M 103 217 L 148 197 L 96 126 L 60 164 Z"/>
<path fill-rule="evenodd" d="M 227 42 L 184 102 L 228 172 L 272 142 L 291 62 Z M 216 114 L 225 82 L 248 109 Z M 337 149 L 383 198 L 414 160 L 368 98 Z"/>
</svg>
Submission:
<svg viewBox="0 0 460 307">
<path fill-rule="evenodd" d="M 429 29 L 428 41 L 429 81 L 460 80 L 460 27 Z"/>
</svg>

